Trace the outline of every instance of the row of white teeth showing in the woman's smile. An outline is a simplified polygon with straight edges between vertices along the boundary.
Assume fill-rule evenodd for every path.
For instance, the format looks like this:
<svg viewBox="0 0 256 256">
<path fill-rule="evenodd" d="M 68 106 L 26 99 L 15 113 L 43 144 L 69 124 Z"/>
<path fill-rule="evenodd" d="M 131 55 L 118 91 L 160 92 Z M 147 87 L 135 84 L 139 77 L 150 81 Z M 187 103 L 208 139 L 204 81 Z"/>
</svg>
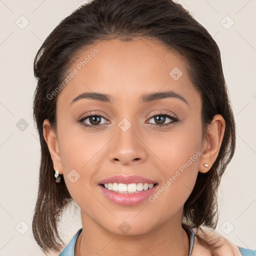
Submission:
<svg viewBox="0 0 256 256">
<path fill-rule="evenodd" d="M 113 190 L 117 193 L 136 193 L 138 191 L 147 190 L 148 188 L 152 188 L 154 184 L 148 183 L 131 183 L 131 184 L 123 184 L 123 183 L 105 183 L 104 187 L 108 190 Z"/>
</svg>

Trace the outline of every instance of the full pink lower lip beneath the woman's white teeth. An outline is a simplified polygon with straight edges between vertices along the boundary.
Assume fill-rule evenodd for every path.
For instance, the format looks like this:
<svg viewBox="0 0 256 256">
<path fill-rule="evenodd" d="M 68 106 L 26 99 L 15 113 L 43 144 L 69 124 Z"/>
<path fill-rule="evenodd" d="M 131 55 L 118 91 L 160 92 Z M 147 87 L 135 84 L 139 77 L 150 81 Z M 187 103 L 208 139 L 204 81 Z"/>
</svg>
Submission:
<svg viewBox="0 0 256 256">
<path fill-rule="evenodd" d="M 104 188 L 102 185 L 99 185 L 101 191 L 103 194 L 112 202 L 119 204 L 119 205 L 135 205 L 138 204 L 145 199 L 147 199 L 150 195 L 152 195 L 156 189 L 158 184 L 154 185 L 152 188 L 149 188 L 147 190 L 142 190 L 137 193 L 116 193 L 113 190 L 108 190 Z"/>
</svg>

